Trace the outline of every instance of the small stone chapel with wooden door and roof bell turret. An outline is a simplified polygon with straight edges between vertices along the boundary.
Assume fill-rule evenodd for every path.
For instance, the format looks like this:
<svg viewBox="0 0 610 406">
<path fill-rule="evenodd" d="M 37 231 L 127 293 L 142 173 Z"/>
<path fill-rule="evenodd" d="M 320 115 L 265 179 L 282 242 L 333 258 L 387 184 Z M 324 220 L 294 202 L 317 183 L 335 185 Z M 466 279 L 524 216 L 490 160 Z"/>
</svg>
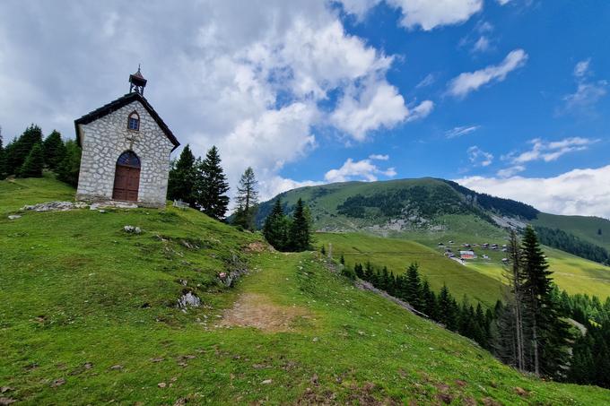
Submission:
<svg viewBox="0 0 610 406">
<path fill-rule="evenodd" d="M 179 142 L 144 99 L 139 67 L 129 83 L 125 96 L 74 121 L 83 149 L 76 198 L 163 207 L 170 153 Z"/>
</svg>

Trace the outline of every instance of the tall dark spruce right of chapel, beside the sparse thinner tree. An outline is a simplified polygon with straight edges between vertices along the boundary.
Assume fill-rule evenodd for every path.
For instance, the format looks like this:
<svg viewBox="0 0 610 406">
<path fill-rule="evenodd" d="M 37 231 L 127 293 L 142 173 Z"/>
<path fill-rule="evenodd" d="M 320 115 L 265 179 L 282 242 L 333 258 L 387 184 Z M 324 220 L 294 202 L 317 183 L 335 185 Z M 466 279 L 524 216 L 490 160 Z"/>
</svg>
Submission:
<svg viewBox="0 0 610 406">
<path fill-rule="evenodd" d="M 196 205 L 202 212 L 216 220 L 223 220 L 229 207 L 229 183 L 221 166 L 218 148 L 213 146 L 198 165 L 201 176 L 196 177 Z"/>
</svg>

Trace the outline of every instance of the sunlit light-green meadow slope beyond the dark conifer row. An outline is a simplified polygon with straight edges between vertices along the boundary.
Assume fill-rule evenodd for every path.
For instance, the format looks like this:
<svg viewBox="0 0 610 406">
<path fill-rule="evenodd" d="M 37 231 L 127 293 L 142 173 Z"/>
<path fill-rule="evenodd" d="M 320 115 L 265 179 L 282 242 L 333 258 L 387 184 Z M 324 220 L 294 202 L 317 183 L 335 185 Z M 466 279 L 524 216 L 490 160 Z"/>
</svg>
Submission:
<svg viewBox="0 0 610 406">
<path fill-rule="evenodd" d="M 443 256 L 445 246 L 424 245 L 415 241 L 399 238 L 379 238 L 355 233 L 318 233 L 317 245 L 333 245 L 335 257 L 344 254 L 345 262 L 365 263 L 370 261 L 379 267 L 388 266 L 395 274 L 405 272 L 409 263 L 420 265 L 420 272 L 428 278 L 431 288 L 439 291 L 446 283 L 456 298 L 467 295 L 481 301 L 486 306 L 492 306 L 501 298 L 502 276 L 501 251 L 493 251 L 475 247 L 478 258 L 466 261 L 466 266 Z M 447 240 L 444 240 L 447 241 Z M 455 253 L 462 248 L 461 242 L 455 244 L 445 242 Z M 470 240 L 481 244 L 485 240 Z M 502 240 L 491 240 L 501 244 Z M 425 241 L 424 241 L 425 243 Z M 564 253 L 549 247 L 544 247 L 545 254 L 554 272 L 553 279 L 561 289 L 568 293 L 588 293 L 606 299 L 610 296 L 610 268 L 594 263 L 575 255 Z M 488 255 L 489 260 L 484 260 Z"/>
</svg>

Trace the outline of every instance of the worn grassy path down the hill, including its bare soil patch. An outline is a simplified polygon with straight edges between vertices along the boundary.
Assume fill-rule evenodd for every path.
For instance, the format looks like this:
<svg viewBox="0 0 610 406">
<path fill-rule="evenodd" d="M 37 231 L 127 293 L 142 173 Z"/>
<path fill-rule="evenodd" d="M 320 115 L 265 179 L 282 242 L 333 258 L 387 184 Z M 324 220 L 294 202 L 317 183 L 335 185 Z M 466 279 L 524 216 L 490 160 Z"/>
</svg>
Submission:
<svg viewBox="0 0 610 406">
<path fill-rule="evenodd" d="M 254 272 L 240 284 L 240 294 L 222 315 L 222 326 L 254 327 L 263 332 L 290 332 L 301 318 L 309 318 L 307 308 L 286 303 L 292 290 L 291 277 L 302 254 L 264 254 L 255 260 Z"/>
</svg>

